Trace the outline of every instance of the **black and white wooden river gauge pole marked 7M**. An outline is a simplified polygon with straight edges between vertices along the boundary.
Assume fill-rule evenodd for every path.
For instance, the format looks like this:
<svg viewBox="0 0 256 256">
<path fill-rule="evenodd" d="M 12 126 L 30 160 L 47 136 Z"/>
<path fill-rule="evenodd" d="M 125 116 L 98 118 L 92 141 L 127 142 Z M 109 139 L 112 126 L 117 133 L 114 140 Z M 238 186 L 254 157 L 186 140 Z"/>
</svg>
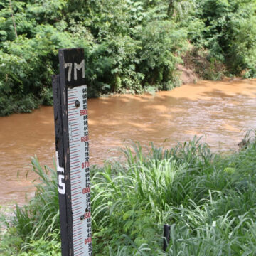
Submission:
<svg viewBox="0 0 256 256">
<path fill-rule="evenodd" d="M 92 256 L 84 51 L 59 50 L 59 60 L 53 100 L 61 250 L 63 256 Z"/>
</svg>

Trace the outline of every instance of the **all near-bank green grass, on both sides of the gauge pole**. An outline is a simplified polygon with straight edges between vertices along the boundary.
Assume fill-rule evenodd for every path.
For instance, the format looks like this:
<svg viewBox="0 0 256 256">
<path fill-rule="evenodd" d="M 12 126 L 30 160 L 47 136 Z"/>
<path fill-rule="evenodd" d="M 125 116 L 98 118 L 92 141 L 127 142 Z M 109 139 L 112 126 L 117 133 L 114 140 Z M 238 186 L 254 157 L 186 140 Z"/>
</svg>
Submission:
<svg viewBox="0 0 256 256">
<path fill-rule="evenodd" d="M 255 139 L 224 156 L 196 138 L 165 151 L 151 145 L 146 155 L 139 144 L 123 152 L 122 164 L 92 168 L 95 255 L 255 254 Z M 42 183 L 14 218 L 3 218 L 1 255 L 60 255 L 56 171 L 32 164 Z"/>
</svg>

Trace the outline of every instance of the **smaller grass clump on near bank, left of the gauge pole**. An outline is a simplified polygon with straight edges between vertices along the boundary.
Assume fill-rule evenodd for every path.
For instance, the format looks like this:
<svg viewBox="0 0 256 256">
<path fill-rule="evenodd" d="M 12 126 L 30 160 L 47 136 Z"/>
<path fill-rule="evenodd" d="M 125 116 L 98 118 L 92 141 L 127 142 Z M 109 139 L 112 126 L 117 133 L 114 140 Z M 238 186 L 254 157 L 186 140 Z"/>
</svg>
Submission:
<svg viewBox="0 0 256 256">
<path fill-rule="evenodd" d="M 27 205 L 10 217 L 1 213 L 0 255 L 60 255 L 57 173 L 37 158 L 31 164 L 40 183 Z"/>
</svg>

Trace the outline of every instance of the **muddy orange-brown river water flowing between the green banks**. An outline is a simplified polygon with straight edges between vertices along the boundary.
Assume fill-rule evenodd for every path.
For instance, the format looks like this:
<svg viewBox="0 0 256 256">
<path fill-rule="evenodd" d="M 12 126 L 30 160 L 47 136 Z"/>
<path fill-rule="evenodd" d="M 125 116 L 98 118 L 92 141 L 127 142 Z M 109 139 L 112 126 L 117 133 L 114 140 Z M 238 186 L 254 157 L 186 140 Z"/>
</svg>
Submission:
<svg viewBox="0 0 256 256">
<path fill-rule="evenodd" d="M 130 140 L 169 148 L 198 135 L 214 151 L 236 149 L 245 131 L 256 127 L 255 97 L 256 80 L 226 80 L 155 95 L 90 99 L 90 164 L 120 156 L 113 149 Z M 0 117 L 0 204 L 23 203 L 26 194 L 31 196 L 36 176 L 29 170 L 35 154 L 41 164 L 53 167 L 53 107 Z"/>
</svg>

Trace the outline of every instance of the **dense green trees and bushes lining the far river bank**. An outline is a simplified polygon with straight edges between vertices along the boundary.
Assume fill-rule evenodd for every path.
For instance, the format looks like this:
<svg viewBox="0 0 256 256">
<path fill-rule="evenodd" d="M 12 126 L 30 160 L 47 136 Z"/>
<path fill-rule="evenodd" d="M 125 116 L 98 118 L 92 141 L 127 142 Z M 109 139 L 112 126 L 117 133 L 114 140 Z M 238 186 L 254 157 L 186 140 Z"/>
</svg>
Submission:
<svg viewBox="0 0 256 256">
<path fill-rule="evenodd" d="M 0 115 L 51 105 L 59 48 L 85 48 L 90 95 L 169 90 L 178 63 L 256 75 L 254 0 L 1 0 Z"/>
</svg>

